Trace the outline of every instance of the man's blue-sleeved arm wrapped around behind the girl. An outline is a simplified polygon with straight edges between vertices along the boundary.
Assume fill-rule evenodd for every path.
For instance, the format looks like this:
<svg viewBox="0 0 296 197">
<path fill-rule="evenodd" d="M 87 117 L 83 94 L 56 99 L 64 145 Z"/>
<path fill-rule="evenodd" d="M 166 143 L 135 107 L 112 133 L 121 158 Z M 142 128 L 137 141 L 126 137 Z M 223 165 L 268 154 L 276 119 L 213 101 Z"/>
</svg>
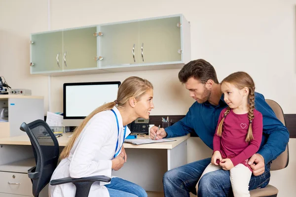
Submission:
<svg viewBox="0 0 296 197">
<path fill-rule="evenodd" d="M 263 116 L 263 132 L 269 135 L 267 142 L 258 151 L 258 154 L 264 158 L 264 162 L 267 164 L 286 150 L 289 142 L 289 131 L 277 119 L 263 95 L 259 93 L 255 94 L 255 107 Z"/>
</svg>

